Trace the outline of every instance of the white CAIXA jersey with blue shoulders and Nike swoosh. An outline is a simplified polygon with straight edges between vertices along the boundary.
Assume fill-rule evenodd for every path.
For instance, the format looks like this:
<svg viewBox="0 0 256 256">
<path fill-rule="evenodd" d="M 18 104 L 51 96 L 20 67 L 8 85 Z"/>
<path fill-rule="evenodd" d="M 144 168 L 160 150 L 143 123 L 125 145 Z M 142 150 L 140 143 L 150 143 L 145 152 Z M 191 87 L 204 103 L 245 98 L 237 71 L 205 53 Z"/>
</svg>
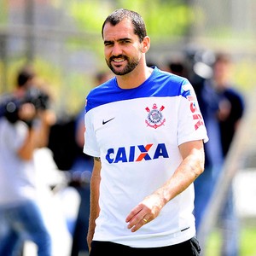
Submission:
<svg viewBox="0 0 256 256">
<path fill-rule="evenodd" d="M 84 153 L 102 161 L 93 240 L 163 247 L 195 236 L 193 184 L 140 230 L 131 232 L 125 223 L 133 207 L 172 177 L 182 161 L 178 146 L 207 141 L 189 81 L 157 67 L 134 89 L 120 89 L 110 79 L 90 91 L 85 126 Z"/>
</svg>

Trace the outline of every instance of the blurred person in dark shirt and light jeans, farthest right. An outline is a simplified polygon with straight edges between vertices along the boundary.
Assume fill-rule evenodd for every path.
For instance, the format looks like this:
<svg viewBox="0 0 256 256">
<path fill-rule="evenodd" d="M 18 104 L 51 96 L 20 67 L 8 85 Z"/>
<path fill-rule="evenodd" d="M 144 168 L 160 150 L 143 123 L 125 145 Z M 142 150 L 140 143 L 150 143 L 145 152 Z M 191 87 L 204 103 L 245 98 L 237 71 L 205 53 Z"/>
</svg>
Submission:
<svg viewBox="0 0 256 256">
<path fill-rule="evenodd" d="M 231 79 L 231 56 L 218 53 L 213 66 L 213 88 L 219 97 L 218 124 L 224 159 L 240 125 L 245 109 L 244 98 Z M 223 234 L 222 255 L 239 255 L 239 219 L 236 215 L 232 183 L 220 212 Z"/>
</svg>

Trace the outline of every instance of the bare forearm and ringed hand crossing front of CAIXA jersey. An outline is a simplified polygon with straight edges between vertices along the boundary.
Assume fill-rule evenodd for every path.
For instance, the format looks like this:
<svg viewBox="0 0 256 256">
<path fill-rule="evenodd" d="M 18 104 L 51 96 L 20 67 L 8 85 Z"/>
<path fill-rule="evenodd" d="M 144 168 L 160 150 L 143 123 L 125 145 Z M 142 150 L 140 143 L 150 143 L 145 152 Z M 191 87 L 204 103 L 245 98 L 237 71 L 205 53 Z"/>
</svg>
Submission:
<svg viewBox="0 0 256 256">
<path fill-rule="evenodd" d="M 168 201 L 187 189 L 195 181 L 195 178 L 203 172 L 205 157 L 201 140 L 183 143 L 179 146 L 179 149 L 183 161 L 172 177 L 160 189 L 154 191 L 152 195 L 144 198 L 125 219 L 128 223 L 128 229 L 131 229 L 132 232 L 137 231 L 143 224 L 156 218 Z"/>
</svg>

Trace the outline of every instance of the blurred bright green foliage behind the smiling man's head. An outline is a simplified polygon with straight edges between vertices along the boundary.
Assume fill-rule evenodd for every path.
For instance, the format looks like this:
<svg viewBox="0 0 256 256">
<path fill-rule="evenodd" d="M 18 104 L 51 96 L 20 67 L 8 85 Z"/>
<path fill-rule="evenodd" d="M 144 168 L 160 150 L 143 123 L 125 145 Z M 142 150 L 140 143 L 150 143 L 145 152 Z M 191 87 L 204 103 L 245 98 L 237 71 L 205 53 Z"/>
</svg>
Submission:
<svg viewBox="0 0 256 256">
<path fill-rule="evenodd" d="M 148 35 L 154 38 L 172 38 L 188 32 L 194 20 L 192 9 L 184 1 L 137 0 L 137 1 L 70 1 L 70 15 L 85 32 L 101 32 L 102 22 L 114 9 L 137 11 L 147 24 Z"/>
</svg>

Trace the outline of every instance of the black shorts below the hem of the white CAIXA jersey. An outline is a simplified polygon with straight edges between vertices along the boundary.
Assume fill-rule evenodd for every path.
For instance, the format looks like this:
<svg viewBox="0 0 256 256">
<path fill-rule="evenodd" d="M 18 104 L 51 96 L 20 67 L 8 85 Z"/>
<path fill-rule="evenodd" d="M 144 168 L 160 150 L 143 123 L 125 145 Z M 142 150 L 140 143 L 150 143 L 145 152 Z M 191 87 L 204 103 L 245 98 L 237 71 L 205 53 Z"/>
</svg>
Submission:
<svg viewBox="0 0 256 256">
<path fill-rule="evenodd" d="M 200 251 L 195 237 L 172 246 L 149 248 L 127 247 L 110 241 L 92 241 L 90 256 L 197 256 Z"/>
</svg>

